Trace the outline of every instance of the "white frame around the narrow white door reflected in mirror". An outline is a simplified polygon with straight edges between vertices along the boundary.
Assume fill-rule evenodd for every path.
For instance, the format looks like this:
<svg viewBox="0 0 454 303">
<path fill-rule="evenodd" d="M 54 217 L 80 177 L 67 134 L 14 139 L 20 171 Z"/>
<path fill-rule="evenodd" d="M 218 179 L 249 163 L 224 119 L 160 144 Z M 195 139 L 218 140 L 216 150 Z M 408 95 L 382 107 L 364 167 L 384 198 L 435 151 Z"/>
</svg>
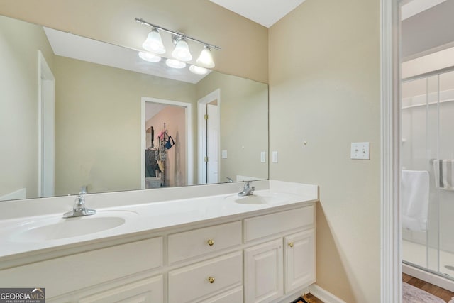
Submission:
<svg viewBox="0 0 454 303">
<path fill-rule="evenodd" d="M 206 172 L 204 173 L 204 155 L 202 153 L 202 150 L 204 150 L 204 140 L 202 140 L 202 138 L 204 137 L 204 128 L 202 128 L 202 124 L 204 123 L 205 119 L 204 119 L 204 115 L 205 114 L 202 114 L 201 110 L 203 109 L 203 106 L 206 105 L 206 104 L 209 104 L 210 102 L 214 101 L 214 100 L 217 100 L 218 101 L 218 131 L 219 133 L 221 133 L 221 89 L 215 89 L 213 92 L 207 94 L 205 97 L 202 97 L 201 99 L 199 99 L 197 101 L 197 129 L 199 130 L 198 131 L 198 136 L 197 136 L 197 140 L 199 141 L 199 149 L 197 151 L 197 154 L 198 154 L 198 162 L 199 162 L 199 165 L 197 165 L 197 167 L 199 168 L 199 184 L 206 184 L 206 182 L 202 182 L 202 180 L 204 180 L 204 176 L 205 176 L 205 180 L 206 180 Z M 218 136 L 218 152 L 220 150 L 220 147 L 221 147 L 221 136 Z M 220 173 L 221 173 L 221 159 L 219 158 L 219 155 L 218 155 L 218 176 L 220 176 Z M 218 177 L 218 181 L 219 181 L 219 177 Z"/>
</svg>

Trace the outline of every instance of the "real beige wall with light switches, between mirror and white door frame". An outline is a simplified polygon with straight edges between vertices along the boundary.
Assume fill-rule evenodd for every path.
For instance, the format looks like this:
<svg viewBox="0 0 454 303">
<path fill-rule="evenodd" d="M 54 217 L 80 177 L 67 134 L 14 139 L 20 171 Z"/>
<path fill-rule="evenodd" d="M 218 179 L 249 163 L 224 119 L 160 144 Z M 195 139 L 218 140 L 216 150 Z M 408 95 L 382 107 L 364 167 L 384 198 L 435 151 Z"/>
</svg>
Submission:
<svg viewBox="0 0 454 303">
<path fill-rule="evenodd" d="M 320 186 L 317 284 L 380 302 L 380 1 L 306 0 L 269 41 L 270 178 Z"/>
</svg>

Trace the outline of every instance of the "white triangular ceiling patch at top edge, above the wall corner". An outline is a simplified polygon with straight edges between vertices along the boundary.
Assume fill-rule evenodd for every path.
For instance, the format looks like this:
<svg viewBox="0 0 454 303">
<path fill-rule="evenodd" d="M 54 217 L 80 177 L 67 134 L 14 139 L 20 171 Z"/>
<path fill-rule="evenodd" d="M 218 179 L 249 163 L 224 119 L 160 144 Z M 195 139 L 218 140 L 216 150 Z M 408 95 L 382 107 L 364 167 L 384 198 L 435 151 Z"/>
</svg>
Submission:
<svg viewBox="0 0 454 303">
<path fill-rule="evenodd" d="M 269 28 L 305 0 L 210 0 Z"/>
</svg>

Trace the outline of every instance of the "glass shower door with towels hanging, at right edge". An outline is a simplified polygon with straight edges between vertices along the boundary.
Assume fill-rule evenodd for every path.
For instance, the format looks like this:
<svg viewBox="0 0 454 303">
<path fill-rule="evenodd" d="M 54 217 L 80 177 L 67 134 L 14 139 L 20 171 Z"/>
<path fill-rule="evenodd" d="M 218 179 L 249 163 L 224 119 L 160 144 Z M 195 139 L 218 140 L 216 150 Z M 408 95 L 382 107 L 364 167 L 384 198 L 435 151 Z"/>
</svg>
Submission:
<svg viewBox="0 0 454 303">
<path fill-rule="evenodd" d="M 409 206 L 402 211 L 426 219 L 423 228 L 406 226 L 403 220 L 404 263 L 454 277 L 454 267 L 449 269 L 454 266 L 454 190 L 440 188 L 443 176 L 436 169 L 454 159 L 454 71 L 404 81 L 401 121 L 402 192 L 407 191 L 401 205 Z M 419 192 L 404 189 L 405 173 L 428 176 L 416 184 Z M 427 189 L 427 199 L 421 198 L 421 187 Z"/>
</svg>

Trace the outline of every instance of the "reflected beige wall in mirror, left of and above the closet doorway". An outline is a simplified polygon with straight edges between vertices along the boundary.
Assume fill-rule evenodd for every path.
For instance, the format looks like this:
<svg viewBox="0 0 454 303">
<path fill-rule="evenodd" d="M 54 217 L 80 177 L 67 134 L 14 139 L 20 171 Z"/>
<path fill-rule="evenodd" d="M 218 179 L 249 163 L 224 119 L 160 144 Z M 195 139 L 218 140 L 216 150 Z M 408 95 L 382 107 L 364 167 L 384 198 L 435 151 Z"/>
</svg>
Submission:
<svg viewBox="0 0 454 303">
<path fill-rule="evenodd" d="M 140 188 L 141 97 L 191 103 L 195 86 L 55 56 L 55 194 Z"/>
</svg>

